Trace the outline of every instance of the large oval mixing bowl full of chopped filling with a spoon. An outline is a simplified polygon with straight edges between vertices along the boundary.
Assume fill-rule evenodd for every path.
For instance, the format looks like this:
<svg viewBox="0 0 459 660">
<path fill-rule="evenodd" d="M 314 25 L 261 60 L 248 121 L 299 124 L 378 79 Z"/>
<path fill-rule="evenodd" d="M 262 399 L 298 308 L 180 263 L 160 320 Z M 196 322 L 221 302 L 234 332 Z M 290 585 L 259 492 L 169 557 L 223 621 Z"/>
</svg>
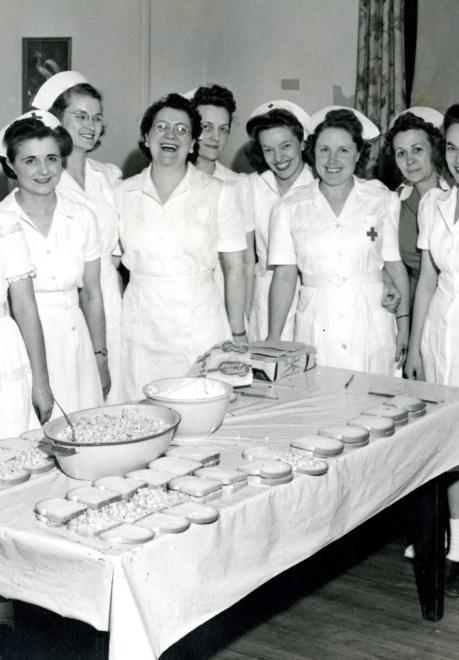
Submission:
<svg viewBox="0 0 459 660">
<path fill-rule="evenodd" d="M 78 441 L 78 421 L 94 420 L 94 418 L 109 415 L 120 418 L 127 415 L 142 418 L 142 437 L 116 441 L 104 440 L 104 428 L 97 431 L 95 442 Z M 123 475 L 131 470 L 147 467 L 167 451 L 174 431 L 180 422 L 180 415 L 174 410 L 149 403 L 126 403 L 116 406 L 102 406 L 79 412 L 70 413 L 69 418 L 76 424 L 76 442 L 69 435 L 69 425 L 64 417 L 47 422 L 43 428 L 45 437 L 51 443 L 51 451 L 55 455 L 59 467 L 69 477 L 75 479 L 94 480 L 110 475 Z M 107 422 L 107 418 L 104 418 Z M 145 419 L 151 420 L 151 429 Z M 158 423 L 162 428 L 158 430 Z M 100 441 L 99 441 L 100 440 Z"/>
</svg>

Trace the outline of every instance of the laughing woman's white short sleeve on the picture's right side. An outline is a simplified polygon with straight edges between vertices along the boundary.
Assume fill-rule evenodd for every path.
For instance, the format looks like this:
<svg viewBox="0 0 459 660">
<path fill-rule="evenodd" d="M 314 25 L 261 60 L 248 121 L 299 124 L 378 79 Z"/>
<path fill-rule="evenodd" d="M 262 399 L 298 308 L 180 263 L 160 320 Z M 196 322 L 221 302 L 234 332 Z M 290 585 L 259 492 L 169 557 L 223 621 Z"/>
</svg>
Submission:
<svg viewBox="0 0 459 660">
<path fill-rule="evenodd" d="M 218 181 L 220 192 L 217 207 L 217 250 L 218 252 L 239 252 L 247 248 L 245 227 L 237 186 L 232 181 Z"/>
</svg>

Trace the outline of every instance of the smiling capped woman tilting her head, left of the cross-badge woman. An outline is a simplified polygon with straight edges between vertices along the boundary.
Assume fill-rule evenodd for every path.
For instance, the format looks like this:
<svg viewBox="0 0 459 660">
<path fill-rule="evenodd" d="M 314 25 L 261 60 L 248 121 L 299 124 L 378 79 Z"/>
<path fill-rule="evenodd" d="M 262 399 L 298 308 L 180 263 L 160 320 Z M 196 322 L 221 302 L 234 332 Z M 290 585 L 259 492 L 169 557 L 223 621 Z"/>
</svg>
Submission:
<svg viewBox="0 0 459 660">
<path fill-rule="evenodd" d="M 269 219 L 274 204 L 282 197 L 313 180 L 305 162 L 305 136 L 309 115 L 295 103 L 270 101 L 250 115 L 247 133 L 251 138 L 250 161 L 256 172 L 247 177 L 243 205 L 252 216 L 248 222 L 255 229 L 255 243 L 247 251 L 254 255 L 253 290 L 247 292 L 248 335 L 250 341 L 266 339 L 268 334 L 268 298 L 272 269 L 268 266 Z M 253 234 L 249 236 L 249 239 Z M 292 339 L 296 299 L 293 300 L 282 339 Z"/>
</svg>

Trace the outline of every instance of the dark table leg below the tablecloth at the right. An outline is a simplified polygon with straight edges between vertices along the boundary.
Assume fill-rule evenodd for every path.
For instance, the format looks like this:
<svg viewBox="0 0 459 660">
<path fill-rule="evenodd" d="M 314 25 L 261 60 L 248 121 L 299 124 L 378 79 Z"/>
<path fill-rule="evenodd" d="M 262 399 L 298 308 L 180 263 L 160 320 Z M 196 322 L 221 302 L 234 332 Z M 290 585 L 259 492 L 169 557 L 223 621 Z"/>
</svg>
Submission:
<svg viewBox="0 0 459 660">
<path fill-rule="evenodd" d="M 443 617 L 445 583 L 445 481 L 440 476 L 416 492 L 414 573 L 422 616 L 429 621 Z"/>
</svg>

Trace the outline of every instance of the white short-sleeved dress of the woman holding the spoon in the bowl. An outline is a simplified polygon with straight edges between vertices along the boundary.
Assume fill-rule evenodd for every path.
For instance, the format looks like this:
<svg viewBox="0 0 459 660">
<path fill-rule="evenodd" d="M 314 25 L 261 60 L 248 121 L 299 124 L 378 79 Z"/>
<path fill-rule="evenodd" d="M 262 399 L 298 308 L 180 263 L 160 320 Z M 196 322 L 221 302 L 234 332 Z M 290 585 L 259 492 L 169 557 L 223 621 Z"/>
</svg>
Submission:
<svg viewBox="0 0 459 660">
<path fill-rule="evenodd" d="M 45 237 L 17 203 L 16 191 L 0 203 L 0 211 L 21 222 L 37 270 L 35 296 L 56 399 L 66 412 L 102 405 L 94 348 L 78 300 L 85 262 L 100 257 L 100 237 L 92 212 L 57 193 L 54 217 Z M 61 414 L 54 406 L 53 417 Z"/>
</svg>

